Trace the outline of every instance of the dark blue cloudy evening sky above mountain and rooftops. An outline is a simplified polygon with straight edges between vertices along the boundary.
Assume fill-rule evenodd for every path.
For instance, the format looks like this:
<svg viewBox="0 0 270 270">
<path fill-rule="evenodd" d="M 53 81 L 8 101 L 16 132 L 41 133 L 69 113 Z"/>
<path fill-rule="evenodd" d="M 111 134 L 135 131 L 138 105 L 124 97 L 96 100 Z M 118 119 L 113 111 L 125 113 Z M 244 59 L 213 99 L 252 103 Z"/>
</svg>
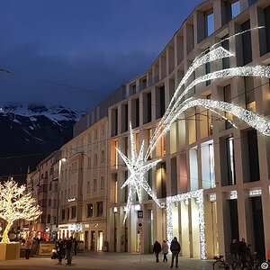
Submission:
<svg viewBox="0 0 270 270">
<path fill-rule="evenodd" d="M 1 102 L 91 109 L 148 69 L 202 0 L 0 3 Z M 103 94 L 53 85 L 32 77 Z"/>
</svg>

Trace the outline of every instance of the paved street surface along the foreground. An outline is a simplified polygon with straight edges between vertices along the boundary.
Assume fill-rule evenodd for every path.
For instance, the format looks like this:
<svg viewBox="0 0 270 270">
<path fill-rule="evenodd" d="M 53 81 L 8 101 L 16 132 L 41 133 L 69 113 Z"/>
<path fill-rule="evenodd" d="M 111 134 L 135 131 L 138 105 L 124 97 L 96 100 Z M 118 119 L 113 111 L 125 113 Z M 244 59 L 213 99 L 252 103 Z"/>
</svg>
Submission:
<svg viewBox="0 0 270 270">
<path fill-rule="evenodd" d="M 163 256 L 159 256 L 161 259 Z M 73 257 L 72 266 L 66 266 L 67 261 L 63 260 L 62 266 L 57 266 L 58 260 L 50 257 L 33 257 L 30 260 L 21 258 L 14 261 L 0 261 L 0 269 L 8 270 L 35 270 L 35 269 L 112 269 L 112 270 L 135 270 L 135 269 L 170 269 L 171 257 L 168 262 L 155 262 L 154 255 L 139 255 L 128 253 L 105 253 L 105 252 L 85 252 Z M 175 268 L 174 268 L 175 269 Z M 202 261 L 191 258 L 179 258 L 178 269 L 212 269 L 211 261 Z"/>
</svg>

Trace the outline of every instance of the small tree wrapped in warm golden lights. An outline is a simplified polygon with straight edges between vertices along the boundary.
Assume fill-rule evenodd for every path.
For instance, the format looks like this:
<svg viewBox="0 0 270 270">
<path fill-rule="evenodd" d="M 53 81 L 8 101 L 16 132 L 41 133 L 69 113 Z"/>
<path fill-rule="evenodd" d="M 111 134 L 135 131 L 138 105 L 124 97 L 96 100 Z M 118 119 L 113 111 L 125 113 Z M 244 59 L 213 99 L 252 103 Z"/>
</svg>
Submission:
<svg viewBox="0 0 270 270">
<path fill-rule="evenodd" d="M 15 220 L 36 220 L 42 213 L 31 193 L 25 191 L 26 186 L 18 186 L 13 178 L 0 183 L 0 219 L 7 221 L 2 243 L 9 243 L 8 231 Z"/>
</svg>

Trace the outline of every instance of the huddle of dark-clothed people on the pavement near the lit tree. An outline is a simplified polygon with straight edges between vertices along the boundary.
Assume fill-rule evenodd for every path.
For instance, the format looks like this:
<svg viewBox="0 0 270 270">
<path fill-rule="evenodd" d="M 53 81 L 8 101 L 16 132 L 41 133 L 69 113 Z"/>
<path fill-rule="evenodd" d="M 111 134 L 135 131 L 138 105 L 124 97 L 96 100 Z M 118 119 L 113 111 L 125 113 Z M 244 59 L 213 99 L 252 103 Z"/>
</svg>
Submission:
<svg viewBox="0 0 270 270">
<path fill-rule="evenodd" d="M 76 238 L 63 238 L 56 242 L 56 250 L 58 254 L 58 264 L 62 264 L 64 258 L 67 259 L 67 266 L 71 265 L 72 257 L 76 256 L 77 240 Z"/>
</svg>

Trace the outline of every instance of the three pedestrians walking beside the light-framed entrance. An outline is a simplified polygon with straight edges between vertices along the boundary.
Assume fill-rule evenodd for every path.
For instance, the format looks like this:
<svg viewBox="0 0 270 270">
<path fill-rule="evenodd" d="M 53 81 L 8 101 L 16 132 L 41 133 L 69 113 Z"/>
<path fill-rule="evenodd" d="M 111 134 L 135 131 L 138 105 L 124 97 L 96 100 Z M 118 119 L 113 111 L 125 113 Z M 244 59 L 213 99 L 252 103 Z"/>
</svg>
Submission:
<svg viewBox="0 0 270 270">
<path fill-rule="evenodd" d="M 177 238 L 174 238 L 172 240 L 171 245 L 170 245 L 170 250 L 172 252 L 171 268 L 174 267 L 174 261 L 175 261 L 175 268 L 178 268 L 178 256 L 179 256 L 179 253 L 181 251 L 181 246 L 180 246 L 179 242 L 177 241 Z M 161 251 L 163 253 L 163 261 L 167 262 L 166 255 L 168 254 L 168 245 L 166 243 L 166 240 L 163 240 L 162 247 L 157 240 L 154 243 L 153 253 L 155 253 L 155 255 L 156 255 L 156 262 L 157 263 L 159 262 L 158 255 Z"/>
</svg>

